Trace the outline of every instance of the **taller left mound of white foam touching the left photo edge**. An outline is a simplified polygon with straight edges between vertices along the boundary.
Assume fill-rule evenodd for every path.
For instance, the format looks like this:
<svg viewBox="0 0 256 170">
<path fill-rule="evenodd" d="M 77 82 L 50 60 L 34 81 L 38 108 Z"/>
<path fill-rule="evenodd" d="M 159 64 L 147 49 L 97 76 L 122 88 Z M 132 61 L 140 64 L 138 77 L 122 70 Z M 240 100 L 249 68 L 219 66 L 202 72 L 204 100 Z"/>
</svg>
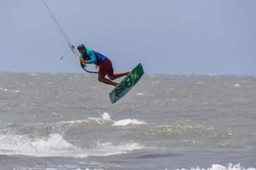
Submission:
<svg viewBox="0 0 256 170">
<path fill-rule="evenodd" d="M 47 138 L 30 138 L 28 135 L 0 135 L 0 154 L 29 156 L 72 156 L 81 149 L 62 138 L 51 134 Z"/>
</svg>

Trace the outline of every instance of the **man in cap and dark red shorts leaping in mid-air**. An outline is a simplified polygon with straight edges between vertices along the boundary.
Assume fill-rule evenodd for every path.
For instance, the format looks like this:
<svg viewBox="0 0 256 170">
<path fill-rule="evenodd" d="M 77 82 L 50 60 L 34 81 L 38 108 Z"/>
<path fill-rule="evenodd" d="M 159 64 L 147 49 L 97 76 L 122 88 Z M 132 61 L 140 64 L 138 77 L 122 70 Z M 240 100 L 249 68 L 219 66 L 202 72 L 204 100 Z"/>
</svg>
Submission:
<svg viewBox="0 0 256 170">
<path fill-rule="evenodd" d="M 99 82 L 117 86 L 118 83 L 115 83 L 111 80 L 115 80 L 117 78 L 126 76 L 131 72 L 131 71 L 127 71 L 127 72 L 121 72 L 121 73 L 114 74 L 112 62 L 106 56 L 104 56 L 98 52 L 94 52 L 93 50 L 91 50 L 89 48 L 87 49 L 86 46 L 84 46 L 83 44 L 79 44 L 77 46 L 77 50 L 81 54 L 80 55 L 81 63 L 84 62 L 86 64 L 95 64 L 95 65 L 99 66 L 99 73 L 98 73 L 98 81 Z M 82 64 L 82 66 L 84 67 L 83 64 Z M 105 78 L 106 75 L 109 77 L 109 79 Z"/>
</svg>

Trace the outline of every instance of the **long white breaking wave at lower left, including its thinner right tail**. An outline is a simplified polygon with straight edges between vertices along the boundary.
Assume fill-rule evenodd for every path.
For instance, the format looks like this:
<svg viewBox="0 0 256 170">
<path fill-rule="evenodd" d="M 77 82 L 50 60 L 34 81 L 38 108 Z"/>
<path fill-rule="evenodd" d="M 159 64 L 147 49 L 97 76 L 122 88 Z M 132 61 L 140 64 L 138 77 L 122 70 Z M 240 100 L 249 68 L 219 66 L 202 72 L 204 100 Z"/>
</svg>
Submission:
<svg viewBox="0 0 256 170">
<path fill-rule="evenodd" d="M 90 149 L 79 148 L 66 141 L 60 134 L 48 137 L 30 138 L 28 135 L 0 135 L 0 155 L 27 155 L 34 157 L 88 157 L 123 154 L 143 149 L 133 141 L 113 144 L 112 142 L 96 143 Z"/>
</svg>

